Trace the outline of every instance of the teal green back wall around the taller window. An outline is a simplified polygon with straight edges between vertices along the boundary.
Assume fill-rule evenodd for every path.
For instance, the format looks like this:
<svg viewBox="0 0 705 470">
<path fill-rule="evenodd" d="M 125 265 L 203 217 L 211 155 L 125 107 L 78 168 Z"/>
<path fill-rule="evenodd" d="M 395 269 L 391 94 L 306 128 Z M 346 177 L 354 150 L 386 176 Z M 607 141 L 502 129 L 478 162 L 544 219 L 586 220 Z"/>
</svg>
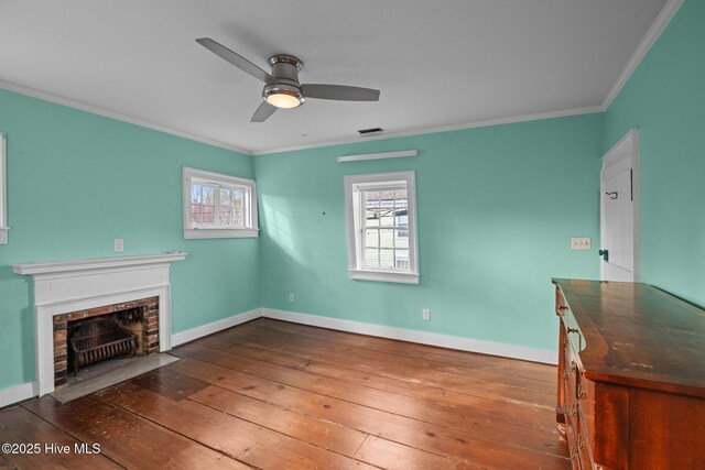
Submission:
<svg viewBox="0 0 705 470">
<path fill-rule="evenodd" d="M 262 306 L 554 350 L 551 276 L 599 275 L 570 239 L 599 237 L 601 129 L 585 114 L 257 156 Z M 406 149 L 420 155 L 336 162 Z M 352 281 L 343 176 L 405 170 L 421 284 Z"/>
</svg>

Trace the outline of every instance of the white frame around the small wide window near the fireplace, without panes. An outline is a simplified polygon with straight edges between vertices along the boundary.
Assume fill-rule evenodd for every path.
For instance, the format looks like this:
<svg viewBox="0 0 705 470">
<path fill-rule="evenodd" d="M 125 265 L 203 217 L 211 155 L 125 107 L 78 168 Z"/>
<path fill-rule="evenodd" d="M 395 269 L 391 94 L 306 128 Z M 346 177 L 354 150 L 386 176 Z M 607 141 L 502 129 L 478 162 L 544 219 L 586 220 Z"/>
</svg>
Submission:
<svg viewBox="0 0 705 470">
<path fill-rule="evenodd" d="M 245 228 L 223 228 L 223 227 L 196 227 L 191 219 L 191 183 L 200 179 L 215 185 L 246 186 L 250 190 L 246 208 L 247 217 Z M 184 238 L 185 239 L 208 239 L 208 238 L 256 238 L 259 236 L 257 219 L 257 186 L 252 179 L 240 178 L 221 173 L 206 172 L 205 170 L 182 167 L 183 179 L 183 214 L 184 214 Z M 218 209 L 216 204 L 216 210 Z"/>
</svg>

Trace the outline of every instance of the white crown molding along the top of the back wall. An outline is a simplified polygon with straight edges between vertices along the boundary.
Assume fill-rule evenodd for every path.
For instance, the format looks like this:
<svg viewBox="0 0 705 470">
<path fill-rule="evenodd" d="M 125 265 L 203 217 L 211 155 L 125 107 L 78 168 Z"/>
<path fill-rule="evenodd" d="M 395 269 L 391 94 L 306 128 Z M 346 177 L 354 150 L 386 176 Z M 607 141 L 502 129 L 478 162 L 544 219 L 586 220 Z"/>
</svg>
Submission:
<svg viewBox="0 0 705 470">
<path fill-rule="evenodd" d="M 500 118 L 500 119 L 488 119 L 485 121 L 476 121 L 476 122 L 469 122 L 465 124 L 444 125 L 444 127 L 436 127 L 436 128 L 420 128 L 411 131 L 390 132 L 381 135 L 367 136 L 367 138 L 357 136 L 357 138 L 334 139 L 334 140 L 328 140 L 328 141 L 323 141 L 323 142 L 312 143 L 306 145 L 286 146 L 286 147 L 279 147 L 279 149 L 274 147 L 274 149 L 268 149 L 268 150 L 261 150 L 261 151 L 258 150 L 258 151 L 253 151 L 251 154 L 256 156 L 267 155 L 271 153 L 292 152 L 296 150 L 317 149 L 322 146 L 341 145 L 341 144 L 349 144 L 349 143 L 362 143 L 362 142 L 370 142 L 370 141 L 379 141 L 384 139 L 433 134 L 438 132 L 462 131 L 464 129 L 487 128 L 490 125 L 513 124 L 517 122 L 525 122 L 525 121 L 540 121 L 542 119 L 565 118 L 568 116 L 589 114 L 593 112 L 603 112 L 603 111 L 604 109 L 599 106 L 586 106 L 583 108 L 573 108 L 573 109 L 565 109 L 560 111 L 512 116 L 510 118 Z"/>
</svg>

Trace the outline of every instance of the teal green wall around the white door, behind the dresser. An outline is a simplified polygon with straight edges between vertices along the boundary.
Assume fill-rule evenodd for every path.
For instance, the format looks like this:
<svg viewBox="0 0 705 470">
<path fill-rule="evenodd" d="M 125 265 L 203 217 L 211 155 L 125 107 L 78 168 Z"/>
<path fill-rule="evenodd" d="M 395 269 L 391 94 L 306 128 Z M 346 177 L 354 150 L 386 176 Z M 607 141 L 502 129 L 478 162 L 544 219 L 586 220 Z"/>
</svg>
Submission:
<svg viewBox="0 0 705 470">
<path fill-rule="evenodd" d="M 686 0 L 605 116 L 640 131 L 643 282 L 705 305 L 705 2 Z"/>
</svg>

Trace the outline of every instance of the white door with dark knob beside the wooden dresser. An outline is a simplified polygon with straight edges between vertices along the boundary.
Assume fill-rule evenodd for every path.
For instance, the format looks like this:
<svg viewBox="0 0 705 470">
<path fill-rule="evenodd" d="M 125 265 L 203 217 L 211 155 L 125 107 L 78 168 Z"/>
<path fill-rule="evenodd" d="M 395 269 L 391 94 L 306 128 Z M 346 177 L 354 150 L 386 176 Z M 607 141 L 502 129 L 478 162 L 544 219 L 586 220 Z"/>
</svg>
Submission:
<svg viewBox="0 0 705 470">
<path fill-rule="evenodd" d="M 634 282 L 639 267 L 638 139 L 636 129 L 603 157 L 600 250 L 603 281 Z"/>
</svg>

